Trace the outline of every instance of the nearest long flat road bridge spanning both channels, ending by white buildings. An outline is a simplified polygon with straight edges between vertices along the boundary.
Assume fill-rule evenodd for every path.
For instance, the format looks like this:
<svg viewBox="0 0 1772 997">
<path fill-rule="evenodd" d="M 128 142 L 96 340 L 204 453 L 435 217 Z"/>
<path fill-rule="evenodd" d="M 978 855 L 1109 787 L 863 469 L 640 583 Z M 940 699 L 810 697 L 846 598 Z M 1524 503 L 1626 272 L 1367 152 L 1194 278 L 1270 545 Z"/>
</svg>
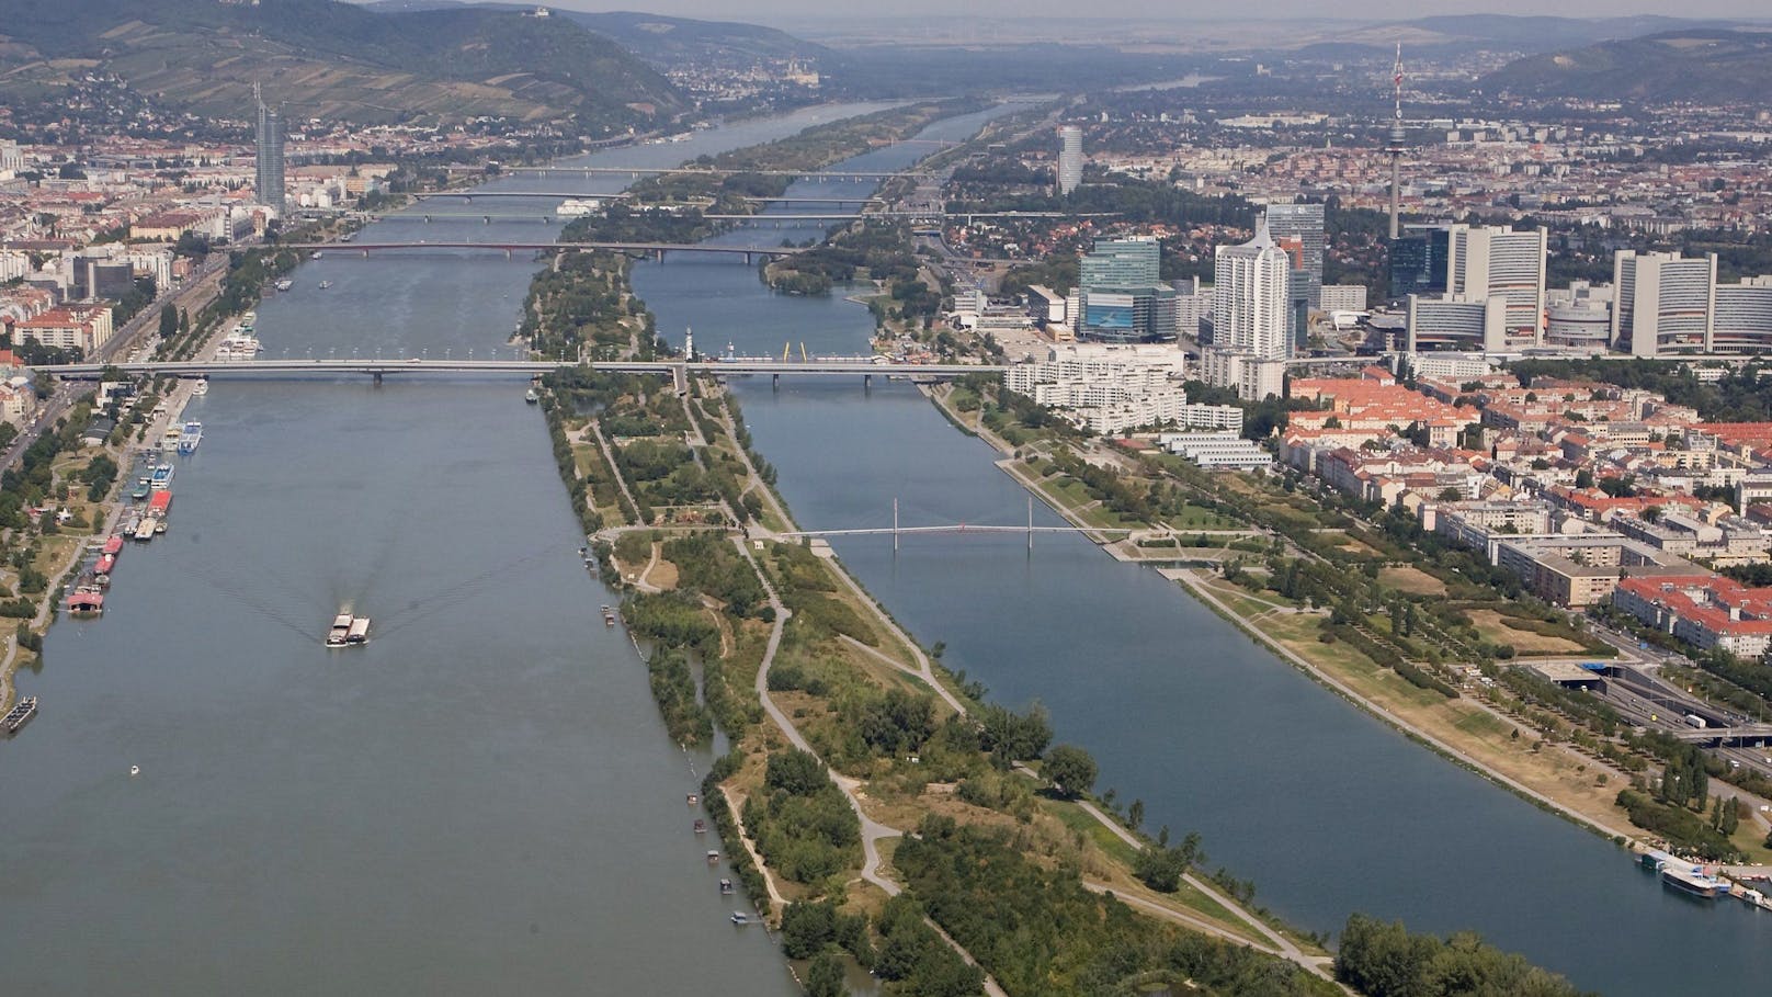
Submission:
<svg viewBox="0 0 1772 997">
<path fill-rule="evenodd" d="M 535 376 L 551 371 L 583 367 L 590 371 L 620 374 L 664 374 L 679 383 L 693 374 L 739 376 L 739 374 L 799 374 L 799 376 L 845 376 L 872 380 L 888 378 L 964 378 L 968 374 L 1001 374 L 1008 367 L 998 364 L 879 364 L 872 357 L 822 357 L 812 360 L 597 360 L 579 364 L 576 360 L 434 360 L 434 358 L 324 358 L 324 360 L 147 360 L 131 364 L 44 364 L 34 367 L 64 380 L 96 380 L 105 371 L 124 374 L 168 374 L 181 378 L 301 378 L 315 374 L 369 374 L 377 381 L 383 376 L 434 376 L 434 374 L 484 374 L 484 376 Z"/>
</svg>

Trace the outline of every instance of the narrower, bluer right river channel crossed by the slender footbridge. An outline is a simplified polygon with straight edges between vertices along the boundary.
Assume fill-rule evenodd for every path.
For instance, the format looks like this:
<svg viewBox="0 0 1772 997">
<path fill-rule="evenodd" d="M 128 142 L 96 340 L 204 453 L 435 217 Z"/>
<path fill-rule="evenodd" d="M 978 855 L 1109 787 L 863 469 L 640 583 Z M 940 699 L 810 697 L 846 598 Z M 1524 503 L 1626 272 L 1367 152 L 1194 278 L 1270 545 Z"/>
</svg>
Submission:
<svg viewBox="0 0 1772 997">
<path fill-rule="evenodd" d="M 973 121 L 941 122 L 953 138 Z M 904 165 L 913 149 L 854 160 Z M 796 192 L 829 195 L 833 183 Z M 764 229 L 771 239 L 773 227 Z M 723 241 L 746 243 L 746 232 Z M 742 266 L 673 255 L 634 286 L 657 326 L 702 349 L 867 351 L 872 319 L 831 298 L 771 294 Z M 904 383 L 735 381 L 762 454 L 804 529 L 1019 523 L 1026 493 L 996 452 Z M 1061 525 L 1040 509 L 1044 525 Z M 1146 825 L 1200 830 L 1209 867 L 1256 882 L 1288 921 L 1336 931 L 1348 912 L 1492 942 L 1611 995 L 1729 990 L 1772 977 L 1772 919 L 1664 891 L 1600 837 L 1411 743 L 1255 646 L 1150 569 L 1072 536 L 835 543 L 843 562 L 948 667 L 994 699 L 1053 711 L 1088 747 L 1097 786 L 1143 798 Z"/>
</svg>

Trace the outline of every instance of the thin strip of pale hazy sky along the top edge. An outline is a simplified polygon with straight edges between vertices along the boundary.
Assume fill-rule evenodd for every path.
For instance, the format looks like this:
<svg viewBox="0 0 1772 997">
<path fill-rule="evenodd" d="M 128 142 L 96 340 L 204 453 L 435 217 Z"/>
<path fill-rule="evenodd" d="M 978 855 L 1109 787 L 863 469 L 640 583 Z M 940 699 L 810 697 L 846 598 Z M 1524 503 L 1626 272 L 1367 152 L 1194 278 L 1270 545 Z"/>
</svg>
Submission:
<svg viewBox="0 0 1772 997">
<path fill-rule="evenodd" d="M 812 16 L 1045 16 L 1045 18 L 1175 18 L 1224 16 L 1224 4 L 1200 0 L 546 0 L 549 7 L 579 11 L 647 11 L 723 21 L 769 21 Z M 1423 14 L 1559 14 L 1568 18 L 1605 18 L 1618 14 L 1676 14 L 1682 18 L 1768 18 L 1765 0 L 1476 0 L 1471 4 L 1435 4 L 1423 0 L 1242 0 L 1235 16 L 1242 18 L 1419 18 Z"/>
</svg>

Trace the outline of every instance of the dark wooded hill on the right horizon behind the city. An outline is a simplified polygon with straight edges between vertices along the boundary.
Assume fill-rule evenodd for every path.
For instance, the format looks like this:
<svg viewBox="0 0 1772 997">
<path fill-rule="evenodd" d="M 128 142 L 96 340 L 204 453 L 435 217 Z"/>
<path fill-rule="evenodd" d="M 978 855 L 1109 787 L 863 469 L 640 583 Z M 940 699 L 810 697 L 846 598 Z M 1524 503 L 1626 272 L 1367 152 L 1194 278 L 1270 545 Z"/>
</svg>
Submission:
<svg viewBox="0 0 1772 997">
<path fill-rule="evenodd" d="M 1520 59 L 1485 92 L 1636 101 L 1772 99 L 1772 34 L 1683 30 Z"/>
</svg>

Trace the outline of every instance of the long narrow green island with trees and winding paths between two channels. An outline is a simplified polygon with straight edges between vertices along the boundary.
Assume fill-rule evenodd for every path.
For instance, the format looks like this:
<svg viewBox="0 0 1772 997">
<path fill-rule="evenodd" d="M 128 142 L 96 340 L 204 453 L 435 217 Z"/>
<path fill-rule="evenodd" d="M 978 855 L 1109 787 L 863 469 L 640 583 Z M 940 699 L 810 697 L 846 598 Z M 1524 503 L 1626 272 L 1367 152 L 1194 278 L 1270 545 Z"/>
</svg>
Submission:
<svg viewBox="0 0 1772 997">
<path fill-rule="evenodd" d="M 668 355 L 627 261 L 578 255 L 587 263 L 537 275 L 530 346 Z M 1331 972 L 1311 937 L 1233 910 L 1253 887 L 1223 871 L 1201 882 L 1198 836 L 1139 834 L 1141 800 L 1120 813 L 1113 791 L 1092 798 L 1093 759 L 1053 745 L 1038 704 L 987 703 L 831 557 L 776 539 L 792 522 L 721 385 L 695 378 L 679 396 L 578 367 L 542 389 L 562 483 L 647 648 L 672 734 L 705 743 L 719 731 L 732 745 L 702 802 L 785 954 L 808 960 L 808 992 L 842 993 L 843 960 L 895 993 L 943 997 L 980 993 L 987 974 L 1021 997 L 1334 993 L 1334 976 L 1366 972 L 1359 960 Z M 872 837 L 863 805 L 898 834 Z M 1097 805 L 1120 823 L 1097 821 Z"/>
</svg>

